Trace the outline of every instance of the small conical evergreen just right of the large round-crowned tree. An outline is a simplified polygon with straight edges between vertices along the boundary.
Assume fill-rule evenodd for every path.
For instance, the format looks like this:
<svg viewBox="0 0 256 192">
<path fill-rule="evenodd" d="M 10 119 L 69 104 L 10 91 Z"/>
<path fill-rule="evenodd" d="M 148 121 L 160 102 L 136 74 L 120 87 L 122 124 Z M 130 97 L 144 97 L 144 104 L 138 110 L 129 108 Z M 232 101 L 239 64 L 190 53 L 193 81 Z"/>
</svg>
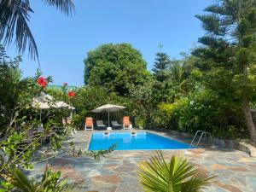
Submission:
<svg viewBox="0 0 256 192">
<path fill-rule="evenodd" d="M 166 79 L 166 69 L 170 64 L 169 56 L 162 51 L 163 45 L 159 45 L 160 51 L 156 53 L 156 58 L 154 61 L 154 68 L 152 69 L 153 75 L 156 80 L 163 82 Z"/>
</svg>

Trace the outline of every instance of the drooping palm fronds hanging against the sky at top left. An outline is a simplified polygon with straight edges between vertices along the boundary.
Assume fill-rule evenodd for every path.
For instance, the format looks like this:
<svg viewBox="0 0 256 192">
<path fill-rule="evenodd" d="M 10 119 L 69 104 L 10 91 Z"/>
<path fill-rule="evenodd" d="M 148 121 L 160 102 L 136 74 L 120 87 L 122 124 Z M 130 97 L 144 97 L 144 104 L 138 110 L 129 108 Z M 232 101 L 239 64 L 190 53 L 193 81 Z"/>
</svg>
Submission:
<svg viewBox="0 0 256 192">
<path fill-rule="evenodd" d="M 72 14 L 73 0 L 43 0 L 49 6 L 60 9 L 64 14 Z M 0 41 L 4 45 L 15 42 L 20 53 L 24 53 L 28 46 L 29 55 L 38 59 L 38 47 L 28 21 L 33 13 L 29 0 L 1 0 L 0 1 Z"/>
</svg>

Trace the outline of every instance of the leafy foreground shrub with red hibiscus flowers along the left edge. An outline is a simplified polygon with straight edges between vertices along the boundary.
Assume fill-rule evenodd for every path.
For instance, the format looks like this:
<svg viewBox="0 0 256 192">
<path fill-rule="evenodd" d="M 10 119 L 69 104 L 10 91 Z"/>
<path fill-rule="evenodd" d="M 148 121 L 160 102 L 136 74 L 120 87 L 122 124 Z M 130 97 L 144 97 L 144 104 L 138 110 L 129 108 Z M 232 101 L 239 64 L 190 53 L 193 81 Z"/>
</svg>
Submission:
<svg viewBox="0 0 256 192">
<path fill-rule="evenodd" d="M 23 170 L 31 169 L 34 163 L 53 158 L 55 154 L 49 152 L 59 149 L 62 153 L 81 155 L 84 152 L 99 160 L 112 152 L 114 146 L 94 153 L 76 148 L 61 148 L 61 141 L 67 136 L 67 132 L 57 132 L 54 128 L 61 125 L 61 117 L 67 111 L 49 108 L 43 114 L 44 117 L 40 118 L 41 109 L 32 103 L 35 97 L 49 91 L 47 85 L 51 78 L 44 78 L 41 73 L 37 73 L 34 78 L 21 79 L 19 61 L 19 58 L 10 60 L 4 50 L 0 49 L 0 191 L 63 191 L 67 189 L 67 185 L 66 179 L 61 179 L 60 172 L 51 172 L 46 167 L 43 180 L 36 182 L 26 178 Z M 76 92 L 64 92 L 60 94 L 55 91 L 56 98 L 50 100 L 49 104 L 59 98 L 72 104 Z M 44 129 L 39 130 L 43 122 Z M 38 151 L 42 140 L 49 140 L 49 146 Z M 37 155 L 33 156 L 36 151 Z"/>
</svg>

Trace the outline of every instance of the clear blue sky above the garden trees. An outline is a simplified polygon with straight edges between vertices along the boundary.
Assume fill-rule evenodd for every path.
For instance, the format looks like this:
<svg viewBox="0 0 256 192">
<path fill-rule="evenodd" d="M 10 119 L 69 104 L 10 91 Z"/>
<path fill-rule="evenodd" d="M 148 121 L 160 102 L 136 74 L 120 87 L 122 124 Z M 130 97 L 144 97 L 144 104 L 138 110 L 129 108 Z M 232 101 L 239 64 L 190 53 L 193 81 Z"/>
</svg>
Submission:
<svg viewBox="0 0 256 192">
<path fill-rule="evenodd" d="M 101 44 L 129 43 L 139 49 L 150 70 L 158 44 L 171 57 L 189 52 L 204 34 L 195 18 L 212 0 L 75 0 L 76 13 L 62 15 L 41 1 L 31 1 L 30 26 L 38 44 L 44 76 L 54 84 L 84 84 L 84 57 Z M 8 49 L 15 55 L 15 49 Z M 33 76 L 38 63 L 27 55 L 23 76 Z"/>
</svg>

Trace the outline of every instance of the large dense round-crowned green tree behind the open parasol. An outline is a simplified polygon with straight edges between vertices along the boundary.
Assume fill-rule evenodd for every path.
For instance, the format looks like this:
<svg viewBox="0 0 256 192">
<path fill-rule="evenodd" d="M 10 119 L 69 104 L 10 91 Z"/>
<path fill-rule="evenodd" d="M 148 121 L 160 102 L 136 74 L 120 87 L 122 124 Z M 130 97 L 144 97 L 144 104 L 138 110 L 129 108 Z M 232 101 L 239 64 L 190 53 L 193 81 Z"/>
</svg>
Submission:
<svg viewBox="0 0 256 192">
<path fill-rule="evenodd" d="M 147 81 L 146 67 L 142 54 L 131 44 L 103 44 L 84 59 L 84 84 L 105 86 L 124 96 L 132 85 Z"/>
</svg>

